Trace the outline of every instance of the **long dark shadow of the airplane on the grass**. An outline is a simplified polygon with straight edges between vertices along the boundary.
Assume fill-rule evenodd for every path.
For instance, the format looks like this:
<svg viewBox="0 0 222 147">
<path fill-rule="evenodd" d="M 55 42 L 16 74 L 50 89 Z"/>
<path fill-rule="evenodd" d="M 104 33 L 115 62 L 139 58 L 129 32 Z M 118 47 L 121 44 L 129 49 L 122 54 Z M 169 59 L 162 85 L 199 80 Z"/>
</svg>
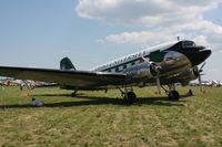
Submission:
<svg viewBox="0 0 222 147">
<path fill-rule="evenodd" d="M 69 94 L 41 94 L 41 95 L 33 95 L 38 98 L 38 96 L 49 96 L 49 97 L 57 97 L 57 96 L 67 96 L 71 97 Z M 137 103 L 133 105 L 158 105 L 158 106 L 184 106 L 181 102 L 185 102 L 185 97 L 190 97 L 186 95 L 182 95 L 181 99 L 178 102 L 169 101 L 168 97 L 139 97 Z M 82 94 L 78 94 L 73 97 L 78 101 L 72 102 L 56 102 L 56 103 L 46 103 L 43 107 L 71 107 L 71 106 L 88 106 L 88 105 L 123 105 L 127 106 L 123 98 L 113 98 L 113 97 L 95 97 L 95 96 L 85 96 Z M 18 105 L 3 105 L 1 107 L 4 108 L 33 108 L 30 104 L 18 104 Z"/>
</svg>

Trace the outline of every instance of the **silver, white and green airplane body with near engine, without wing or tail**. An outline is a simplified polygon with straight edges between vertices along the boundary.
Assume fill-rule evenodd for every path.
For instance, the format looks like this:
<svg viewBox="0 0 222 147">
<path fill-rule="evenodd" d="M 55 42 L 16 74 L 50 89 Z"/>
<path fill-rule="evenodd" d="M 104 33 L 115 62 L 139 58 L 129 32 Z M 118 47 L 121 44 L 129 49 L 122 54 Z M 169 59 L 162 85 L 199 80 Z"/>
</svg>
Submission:
<svg viewBox="0 0 222 147">
<path fill-rule="evenodd" d="M 125 73 L 129 75 L 128 83 L 144 84 L 155 81 L 157 74 L 152 71 L 152 64 L 155 64 L 160 66 L 162 84 L 185 83 L 196 78 L 193 67 L 204 62 L 210 54 L 211 50 L 195 45 L 193 41 L 176 41 L 123 56 L 93 71 Z"/>
</svg>

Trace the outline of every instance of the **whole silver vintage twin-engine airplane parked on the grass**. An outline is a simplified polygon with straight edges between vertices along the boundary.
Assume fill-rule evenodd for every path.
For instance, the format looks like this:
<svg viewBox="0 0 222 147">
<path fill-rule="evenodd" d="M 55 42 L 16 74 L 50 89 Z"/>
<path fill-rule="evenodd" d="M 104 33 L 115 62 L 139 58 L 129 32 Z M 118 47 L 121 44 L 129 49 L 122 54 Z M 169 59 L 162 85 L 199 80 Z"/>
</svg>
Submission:
<svg viewBox="0 0 222 147">
<path fill-rule="evenodd" d="M 132 86 L 155 84 L 159 93 L 162 87 L 169 99 L 175 101 L 180 95 L 174 84 L 188 84 L 195 78 L 201 83 L 204 64 L 200 69 L 198 65 L 210 54 L 211 50 L 205 46 L 183 40 L 130 54 L 91 71 L 77 71 L 71 61 L 64 57 L 60 70 L 0 66 L 0 75 L 58 83 L 61 88 L 74 92 L 119 88 L 129 104 L 137 98 Z M 169 91 L 162 85 L 168 85 Z"/>
</svg>

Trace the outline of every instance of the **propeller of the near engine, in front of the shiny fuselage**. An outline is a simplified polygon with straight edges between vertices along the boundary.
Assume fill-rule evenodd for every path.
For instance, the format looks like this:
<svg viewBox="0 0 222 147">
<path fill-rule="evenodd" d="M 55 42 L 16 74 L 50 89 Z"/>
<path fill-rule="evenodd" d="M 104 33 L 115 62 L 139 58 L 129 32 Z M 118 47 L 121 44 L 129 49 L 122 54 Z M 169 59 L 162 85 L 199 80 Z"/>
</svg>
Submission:
<svg viewBox="0 0 222 147">
<path fill-rule="evenodd" d="M 155 75 L 155 83 L 157 83 L 158 94 L 161 95 L 161 83 L 160 83 L 160 69 L 161 69 L 161 66 L 157 65 L 155 63 L 150 62 L 150 60 L 145 59 L 144 56 L 141 56 L 141 57 L 142 57 L 142 60 L 144 62 L 149 63 L 150 66 L 152 66 L 152 69 L 157 73 L 157 75 Z"/>
</svg>

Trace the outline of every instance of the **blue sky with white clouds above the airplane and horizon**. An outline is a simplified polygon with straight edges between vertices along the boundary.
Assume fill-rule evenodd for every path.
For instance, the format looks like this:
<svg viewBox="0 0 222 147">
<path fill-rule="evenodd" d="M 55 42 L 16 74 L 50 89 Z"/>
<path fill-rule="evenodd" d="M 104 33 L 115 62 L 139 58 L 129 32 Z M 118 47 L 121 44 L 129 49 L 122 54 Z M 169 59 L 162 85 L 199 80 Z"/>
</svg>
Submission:
<svg viewBox="0 0 222 147">
<path fill-rule="evenodd" d="M 203 80 L 222 81 L 222 0 L 0 0 L 0 65 L 78 70 L 176 36 L 213 53 Z"/>
</svg>

